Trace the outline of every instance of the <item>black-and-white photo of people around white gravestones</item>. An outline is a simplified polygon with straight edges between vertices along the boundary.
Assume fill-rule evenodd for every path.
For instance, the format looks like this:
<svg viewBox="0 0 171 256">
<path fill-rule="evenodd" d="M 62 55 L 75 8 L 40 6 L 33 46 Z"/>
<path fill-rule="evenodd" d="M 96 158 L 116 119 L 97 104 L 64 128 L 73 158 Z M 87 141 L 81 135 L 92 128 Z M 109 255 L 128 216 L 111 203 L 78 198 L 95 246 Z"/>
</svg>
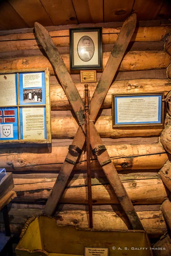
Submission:
<svg viewBox="0 0 171 256">
<path fill-rule="evenodd" d="M 24 89 L 23 101 L 24 103 L 42 102 L 42 89 Z"/>
</svg>

